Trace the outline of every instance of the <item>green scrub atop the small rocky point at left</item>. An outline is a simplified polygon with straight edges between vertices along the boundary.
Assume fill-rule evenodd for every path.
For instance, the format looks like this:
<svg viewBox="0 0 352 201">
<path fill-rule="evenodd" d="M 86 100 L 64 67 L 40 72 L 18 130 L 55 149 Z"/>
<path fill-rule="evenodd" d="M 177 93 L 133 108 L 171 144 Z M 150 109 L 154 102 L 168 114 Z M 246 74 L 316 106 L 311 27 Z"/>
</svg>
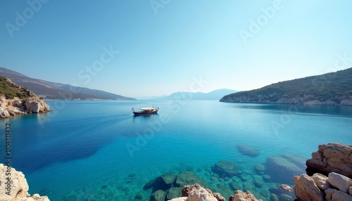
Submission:
<svg viewBox="0 0 352 201">
<path fill-rule="evenodd" d="M 6 77 L 0 77 L 0 95 L 4 95 L 7 99 L 15 97 L 23 99 L 32 96 L 27 88 L 8 82 Z"/>
</svg>

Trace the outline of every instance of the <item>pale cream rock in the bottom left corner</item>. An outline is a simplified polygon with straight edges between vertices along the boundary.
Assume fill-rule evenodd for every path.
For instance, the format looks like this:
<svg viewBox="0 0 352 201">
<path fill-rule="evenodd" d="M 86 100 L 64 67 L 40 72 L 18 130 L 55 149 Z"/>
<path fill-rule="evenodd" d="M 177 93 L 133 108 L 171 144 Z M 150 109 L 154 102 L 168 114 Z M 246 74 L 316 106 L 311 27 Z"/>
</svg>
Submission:
<svg viewBox="0 0 352 201">
<path fill-rule="evenodd" d="M 6 171 L 11 173 L 11 186 L 9 189 L 7 183 L 8 176 L 6 176 Z M 16 171 L 14 168 L 8 169 L 4 164 L 0 164 L 0 199 L 1 200 L 11 200 L 11 201 L 47 201 L 49 200 L 46 196 L 40 196 L 34 194 L 30 196 L 28 193 L 29 186 L 25 175 L 21 171 Z M 9 194 L 9 195 L 8 195 Z"/>
</svg>

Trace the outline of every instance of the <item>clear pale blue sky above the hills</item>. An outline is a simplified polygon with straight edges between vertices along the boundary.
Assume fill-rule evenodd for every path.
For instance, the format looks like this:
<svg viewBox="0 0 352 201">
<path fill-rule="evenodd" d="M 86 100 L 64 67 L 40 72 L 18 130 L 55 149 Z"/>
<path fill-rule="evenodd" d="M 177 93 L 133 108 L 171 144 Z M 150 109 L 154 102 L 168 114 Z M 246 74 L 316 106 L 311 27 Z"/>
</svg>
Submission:
<svg viewBox="0 0 352 201">
<path fill-rule="evenodd" d="M 0 1 L 0 67 L 122 96 L 352 67 L 352 1 Z"/>
</svg>

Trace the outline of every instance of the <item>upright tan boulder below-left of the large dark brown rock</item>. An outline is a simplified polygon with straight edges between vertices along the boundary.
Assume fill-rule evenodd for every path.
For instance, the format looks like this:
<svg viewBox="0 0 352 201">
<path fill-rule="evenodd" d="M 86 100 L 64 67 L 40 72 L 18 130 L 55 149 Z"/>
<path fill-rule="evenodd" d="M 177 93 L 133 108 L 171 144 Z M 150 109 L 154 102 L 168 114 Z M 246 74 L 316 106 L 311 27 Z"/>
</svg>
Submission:
<svg viewBox="0 0 352 201">
<path fill-rule="evenodd" d="M 314 180 L 307 174 L 301 176 L 294 176 L 294 193 L 298 200 L 324 200 L 324 193 L 322 193 Z"/>
</svg>

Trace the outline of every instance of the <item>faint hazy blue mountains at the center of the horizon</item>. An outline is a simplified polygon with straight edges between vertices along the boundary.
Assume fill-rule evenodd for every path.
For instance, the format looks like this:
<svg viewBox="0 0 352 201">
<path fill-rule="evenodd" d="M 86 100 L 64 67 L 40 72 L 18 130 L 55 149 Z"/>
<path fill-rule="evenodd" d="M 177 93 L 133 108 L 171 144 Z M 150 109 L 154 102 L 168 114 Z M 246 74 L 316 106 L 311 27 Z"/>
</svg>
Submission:
<svg viewBox="0 0 352 201">
<path fill-rule="evenodd" d="M 189 91 L 179 91 L 176 93 L 172 93 L 169 96 L 161 97 L 160 100 L 177 100 L 180 98 L 191 100 L 219 100 L 222 96 L 225 96 L 225 94 L 234 92 L 236 91 L 231 89 L 218 89 L 215 91 L 210 91 L 208 93 L 193 93 Z"/>
</svg>

